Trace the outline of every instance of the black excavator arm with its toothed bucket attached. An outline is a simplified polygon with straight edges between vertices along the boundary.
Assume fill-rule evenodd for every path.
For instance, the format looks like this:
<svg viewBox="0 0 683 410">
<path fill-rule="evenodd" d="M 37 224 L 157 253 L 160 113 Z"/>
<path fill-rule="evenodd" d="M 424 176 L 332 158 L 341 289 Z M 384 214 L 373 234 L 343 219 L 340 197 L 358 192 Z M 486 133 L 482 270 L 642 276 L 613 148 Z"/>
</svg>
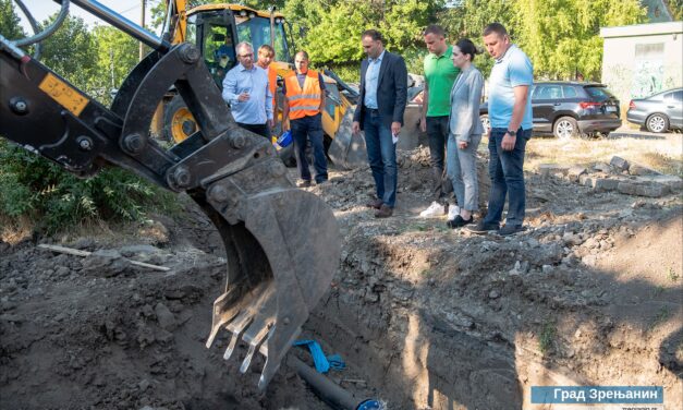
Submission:
<svg viewBox="0 0 683 410">
<path fill-rule="evenodd" d="M 235 124 L 195 46 L 171 46 L 96 1 L 72 2 L 154 51 L 107 108 L 0 36 L 0 135 L 81 177 L 117 166 L 186 192 L 216 225 L 228 260 L 207 347 L 229 331 L 229 359 L 244 340 L 243 373 L 260 352 L 265 389 L 338 267 L 334 216 L 292 185 L 269 141 Z M 171 85 L 200 131 L 166 149 L 149 125 Z"/>
</svg>

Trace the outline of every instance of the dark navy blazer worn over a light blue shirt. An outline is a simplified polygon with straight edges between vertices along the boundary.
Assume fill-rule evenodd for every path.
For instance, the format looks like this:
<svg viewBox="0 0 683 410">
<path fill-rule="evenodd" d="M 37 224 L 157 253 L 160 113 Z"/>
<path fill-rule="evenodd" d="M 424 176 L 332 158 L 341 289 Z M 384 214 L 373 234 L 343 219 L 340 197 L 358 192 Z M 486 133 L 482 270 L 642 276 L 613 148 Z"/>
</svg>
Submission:
<svg viewBox="0 0 683 410">
<path fill-rule="evenodd" d="M 365 72 L 367 71 L 367 58 L 361 62 L 361 99 L 353 114 L 353 120 L 361 123 L 363 130 L 364 100 L 365 100 Z M 382 124 L 391 128 L 397 121 L 403 125 L 403 112 L 407 101 L 407 70 L 403 57 L 385 51 L 379 77 L 377 79 L 377 109 L 381 116 Z"/>
</svg>

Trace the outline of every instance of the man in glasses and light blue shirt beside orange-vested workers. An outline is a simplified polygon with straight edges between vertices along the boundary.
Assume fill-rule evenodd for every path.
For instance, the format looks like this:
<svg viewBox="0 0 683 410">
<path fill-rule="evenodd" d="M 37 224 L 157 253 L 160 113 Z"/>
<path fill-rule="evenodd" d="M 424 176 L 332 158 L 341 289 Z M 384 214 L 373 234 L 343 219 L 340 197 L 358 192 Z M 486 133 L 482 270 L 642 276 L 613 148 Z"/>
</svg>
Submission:
<svg viewBox="0 0 683 410">
<path fill-rule="evenodd" d="M 254 64 L 251 44 L 240 43 L 236 50 L 240 63 L 225 74 L 223 100 L 230 104 L 237 125 L 270 138 L 273 117 L 268 73 Z"/>
</svg>

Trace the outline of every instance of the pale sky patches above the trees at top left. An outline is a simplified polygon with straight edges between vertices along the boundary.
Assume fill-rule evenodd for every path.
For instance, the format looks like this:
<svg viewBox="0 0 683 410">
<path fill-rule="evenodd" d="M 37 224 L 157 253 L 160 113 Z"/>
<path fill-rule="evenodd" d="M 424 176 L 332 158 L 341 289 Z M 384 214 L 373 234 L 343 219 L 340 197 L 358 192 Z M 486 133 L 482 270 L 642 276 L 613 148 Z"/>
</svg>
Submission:
<svg viewBox="0 0 683 410">
<path fill-rule="evenodd" d="M 23 1 L 24 1 L 24 4 L 26 4 L 26 8 L 28 8 L 28 10 L 32 12 L 34 17 L 38 22 L 42 22 L 49 15 L 57 13 L 60 9 L 60 5 L 52 0 L 23 0 Z M 159 3 L 159 1 L 160 0 L 147 0 L 147 16 L 146 16 L 147 23 L 149 23 L 150 5 L 156 5 L 157 3 Z M 142 7 L 141 0 L 98 0 L 98 2 L 122 14 L 124 17 L 129 19 L 130 21 L 139 24 L 139 10 Z M 24 19 L 24 13 L 21 11 L 21 9 L 16 7 L 16 4 L 14 5 L 15 5 L 14 10 L 16 14 L 20 17 L 22 17 L 22 21 L 24 22 L 24 28 L 27 29 L 28 33 L 31 33 L 31 26 Z M 84 11 L 83 9 L 81 9 L 80 7 L 73 3 L 70 3 L 69 5 L 69 13 L 70 15 L 76 15 L 78 17 L 82 17 L 85 21 L 85 23 L 90 27 L 96 22 L 98 24 L 107 25 L 107 23 L 95 17 L 90 13 Z"/>
</svg>

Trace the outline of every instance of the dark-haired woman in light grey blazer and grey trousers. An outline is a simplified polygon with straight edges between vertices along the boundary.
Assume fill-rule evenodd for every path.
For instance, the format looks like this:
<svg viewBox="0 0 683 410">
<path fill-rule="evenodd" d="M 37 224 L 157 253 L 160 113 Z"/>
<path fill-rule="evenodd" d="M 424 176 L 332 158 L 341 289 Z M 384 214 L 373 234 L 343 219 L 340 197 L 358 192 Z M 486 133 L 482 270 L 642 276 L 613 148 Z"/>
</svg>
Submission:
<svg viewBox="0 0 683 410">
<path fill-rule="evenodd" d="M 453 46 L 453 65 L 461 73 L 451 89 L 451 114 L 447 147 L 447 173 L 453 182 L 460 214 L 448 221 L 451 228 L 461 228 L 474 221 L 477 210 L 478 181 L 476 153 L 484 126 L 479 120 L 479 102 L 484 77 L 472 60 L 479 51 L 467 38 Z"/>
</svg>

